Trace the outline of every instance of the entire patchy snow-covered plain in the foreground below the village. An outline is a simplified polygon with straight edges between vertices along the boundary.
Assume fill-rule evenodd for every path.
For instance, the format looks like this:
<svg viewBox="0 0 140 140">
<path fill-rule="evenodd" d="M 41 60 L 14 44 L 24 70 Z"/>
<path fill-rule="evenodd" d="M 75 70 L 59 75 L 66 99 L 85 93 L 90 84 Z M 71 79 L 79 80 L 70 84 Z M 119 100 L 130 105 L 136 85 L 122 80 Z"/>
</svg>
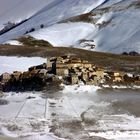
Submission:
<svg viewBox="0 0 140 140">
<path fill-rule="evenodd" d="M 51 94 L 5 93 L 1 99 L 8 101 L 0 105 L 0 133 L 7 137 L 59 140 L 49 132 L 53 128 L 55 134 L 72 140 L 140 138 L 140 114 L 135 117 L 140 100 L 137 91 L 74 85 Z"/>
</svg>

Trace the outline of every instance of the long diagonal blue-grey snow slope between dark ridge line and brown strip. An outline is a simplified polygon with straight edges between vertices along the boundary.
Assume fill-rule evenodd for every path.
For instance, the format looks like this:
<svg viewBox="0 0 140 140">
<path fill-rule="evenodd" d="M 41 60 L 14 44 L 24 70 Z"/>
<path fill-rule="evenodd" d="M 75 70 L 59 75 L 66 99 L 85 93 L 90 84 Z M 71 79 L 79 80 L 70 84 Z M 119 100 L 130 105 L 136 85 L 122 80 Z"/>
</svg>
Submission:
<svg viewBox="0 0 140 140">
<path fill-rule="evenodd" d="M 0 36 L 0 43 L 23 35 L 32 28 L 38 30 L 41 24 L 48 27 L 64 19 L 89 12 L 104 2 L 105 0 L 53 0 L 30 20 Z"/>
</svg>

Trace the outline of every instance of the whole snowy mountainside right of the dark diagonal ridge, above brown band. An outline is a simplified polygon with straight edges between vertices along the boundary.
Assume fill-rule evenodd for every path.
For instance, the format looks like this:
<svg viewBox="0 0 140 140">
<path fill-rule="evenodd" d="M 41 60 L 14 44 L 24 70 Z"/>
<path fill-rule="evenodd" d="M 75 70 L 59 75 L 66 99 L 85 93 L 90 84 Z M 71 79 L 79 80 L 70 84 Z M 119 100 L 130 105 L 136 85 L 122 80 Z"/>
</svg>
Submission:
<svg viewBox="0 0 140 140">
<path fill-rule="evenodd" d="M 54 46 L 140 52 L 138 0 L 53 0 L 45 5 L 28 21 L 1 35 L 0 43 L 29 34 Z"/>
</svg>

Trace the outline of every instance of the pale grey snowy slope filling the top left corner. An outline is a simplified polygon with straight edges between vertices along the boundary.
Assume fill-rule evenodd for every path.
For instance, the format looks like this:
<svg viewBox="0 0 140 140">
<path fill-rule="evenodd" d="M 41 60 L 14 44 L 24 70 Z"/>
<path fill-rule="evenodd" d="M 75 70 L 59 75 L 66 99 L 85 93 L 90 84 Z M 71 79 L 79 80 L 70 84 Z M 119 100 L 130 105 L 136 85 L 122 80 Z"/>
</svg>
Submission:
<svg viewBox="0 0 140 140">
<path fill-rule="evenodd" d="M 51 0 L 52 1 L 52 0 Z M 0 29 L 8 21 L 20 22 L 42 9 L 48 0 L 3 0 L 0 1 Z"/>
</svg>

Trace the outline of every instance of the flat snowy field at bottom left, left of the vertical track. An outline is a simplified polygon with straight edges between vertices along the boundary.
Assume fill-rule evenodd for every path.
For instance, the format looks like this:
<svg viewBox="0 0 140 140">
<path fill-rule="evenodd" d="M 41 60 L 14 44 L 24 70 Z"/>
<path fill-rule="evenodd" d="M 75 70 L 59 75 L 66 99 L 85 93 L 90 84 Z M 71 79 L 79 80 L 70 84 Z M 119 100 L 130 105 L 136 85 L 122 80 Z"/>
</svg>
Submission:
<svg viewBox="0 0 140 140">
<path fill-rule="evenodd" d="M 21 140 L 58 140 L 49 133 L 46 99 L 41 93 L 5 93 L 0 106 L 0 133 Z"/>
</svg>

